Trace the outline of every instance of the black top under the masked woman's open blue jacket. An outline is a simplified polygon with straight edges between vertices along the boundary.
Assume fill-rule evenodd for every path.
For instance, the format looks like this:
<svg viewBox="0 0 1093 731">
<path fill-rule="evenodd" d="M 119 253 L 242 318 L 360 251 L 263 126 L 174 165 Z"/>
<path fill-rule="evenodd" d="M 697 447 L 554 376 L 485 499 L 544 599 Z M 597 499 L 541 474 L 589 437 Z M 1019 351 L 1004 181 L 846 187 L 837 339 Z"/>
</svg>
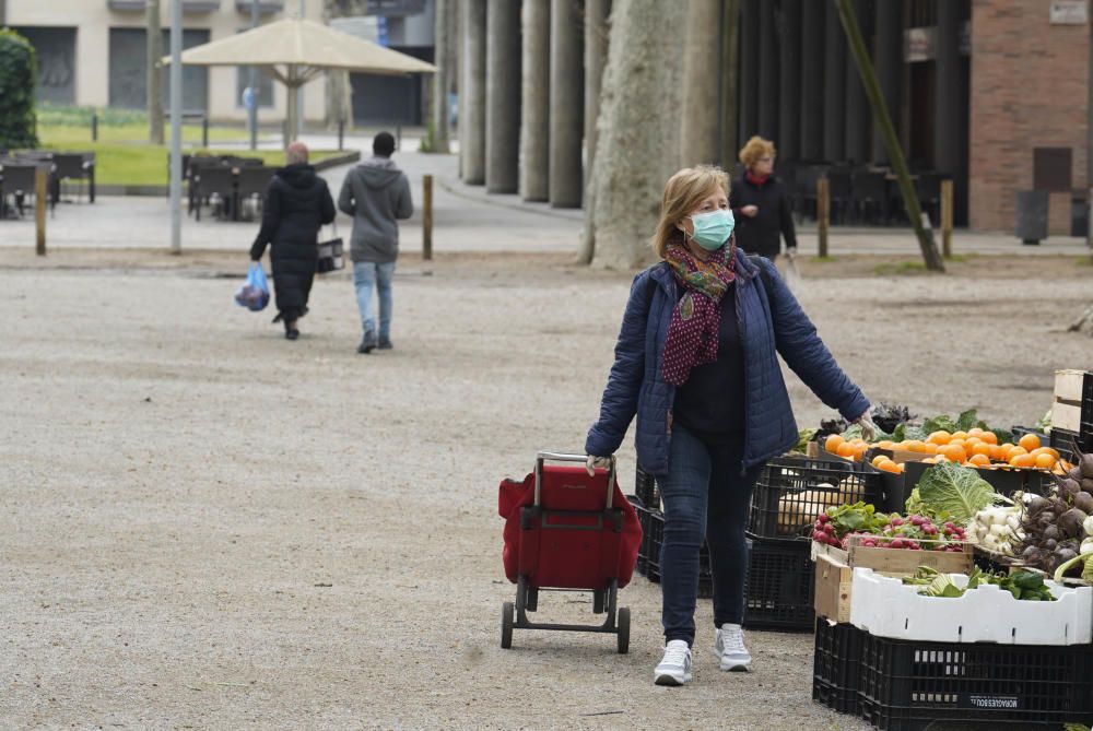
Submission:
<svg viewBox="0 0 1093 731">
<path fill-rule="evenodd" d="M 721 297 L 717 361 L 691 368 L 675 389 L 672 422 L 707 441 L 722 441 L 744 431 L 744 351 L 737 321 L 736 287 Z"/>
</svg>

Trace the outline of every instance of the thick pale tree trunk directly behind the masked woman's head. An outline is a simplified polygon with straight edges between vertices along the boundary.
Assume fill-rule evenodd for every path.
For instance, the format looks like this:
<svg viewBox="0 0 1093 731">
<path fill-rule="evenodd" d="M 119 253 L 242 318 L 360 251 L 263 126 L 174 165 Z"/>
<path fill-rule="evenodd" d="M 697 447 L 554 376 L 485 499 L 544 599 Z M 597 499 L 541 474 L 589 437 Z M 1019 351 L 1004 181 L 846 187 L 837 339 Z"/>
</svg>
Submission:
<svg viewBox="0 0 1093 731">
<path fill-rule="evenodd" d="M 615 0 L 600 92 L 599 138 L 588 210 L 592 263 L 634 268 L 648 246 L 665 181 L 680 166 L 686 3 Z"/>
</svg>

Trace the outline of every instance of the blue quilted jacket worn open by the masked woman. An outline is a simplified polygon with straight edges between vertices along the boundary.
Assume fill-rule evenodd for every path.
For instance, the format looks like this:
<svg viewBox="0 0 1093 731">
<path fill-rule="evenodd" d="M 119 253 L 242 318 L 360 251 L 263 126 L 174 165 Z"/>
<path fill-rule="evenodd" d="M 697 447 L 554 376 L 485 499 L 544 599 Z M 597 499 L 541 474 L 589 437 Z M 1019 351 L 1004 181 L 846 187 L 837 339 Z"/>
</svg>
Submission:
<svg viewBox="0 0 1093 731">
<path fill-rule="evenodd" d="M 766 271 L 767 296 L 760 267 Z M 798 441 L 797 423 L 776 353 L 825 404 L 846 420 L 869 409 L 861 390 L 835 363 L 815 326 L 767 259 L 736 258 L 737 317 L 744 351 L 744 469 L 785 453 Z M 653 474 L 668 472 L 675 387 L 661 374 L 672 309 L 682 292 L 668 264 L 634 278 L 623 315 L 615 362 L 603 391 L 600 417 L 588 432 L 585 451 L 613 455 L 637 414 L 637 461 Z"/>
</svg>

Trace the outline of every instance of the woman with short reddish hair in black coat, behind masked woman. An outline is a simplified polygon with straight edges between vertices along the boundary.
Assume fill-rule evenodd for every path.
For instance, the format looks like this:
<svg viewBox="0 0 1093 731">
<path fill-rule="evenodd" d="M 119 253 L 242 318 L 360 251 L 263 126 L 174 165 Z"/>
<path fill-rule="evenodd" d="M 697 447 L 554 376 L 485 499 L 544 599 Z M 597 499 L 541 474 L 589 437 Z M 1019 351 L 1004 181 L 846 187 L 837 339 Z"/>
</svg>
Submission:
<svg viewBox="0 0 1093 731">
<path fill-rule="evenodd" d="M 744 174 L 732 182 L 730 205 L 737 223 L 737 246 L 748 254 L 764 256 L 771 261 L 781 251 L 786 238 L 786 256 L 797 256 L 797 235 L 789 207 L 789 190 L 774 177 L 774 143 L 753 137 L 740 151 Z"/>
</svg>

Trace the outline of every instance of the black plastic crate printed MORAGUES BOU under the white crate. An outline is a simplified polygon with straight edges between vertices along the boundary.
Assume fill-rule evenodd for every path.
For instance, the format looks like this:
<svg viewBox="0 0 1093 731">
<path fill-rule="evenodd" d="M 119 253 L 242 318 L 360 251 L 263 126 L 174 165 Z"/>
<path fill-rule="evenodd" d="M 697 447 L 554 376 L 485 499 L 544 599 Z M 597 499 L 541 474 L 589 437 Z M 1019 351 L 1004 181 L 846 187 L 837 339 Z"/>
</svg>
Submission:
<svg viewBox="0 0 1093 731">
<path fill-rule="evenodd" d="M 922 642 L 862 636 L 862 718 L 885 731 L 938 721 L 1093 723 L 1093 645 Z"/>
</svg>

